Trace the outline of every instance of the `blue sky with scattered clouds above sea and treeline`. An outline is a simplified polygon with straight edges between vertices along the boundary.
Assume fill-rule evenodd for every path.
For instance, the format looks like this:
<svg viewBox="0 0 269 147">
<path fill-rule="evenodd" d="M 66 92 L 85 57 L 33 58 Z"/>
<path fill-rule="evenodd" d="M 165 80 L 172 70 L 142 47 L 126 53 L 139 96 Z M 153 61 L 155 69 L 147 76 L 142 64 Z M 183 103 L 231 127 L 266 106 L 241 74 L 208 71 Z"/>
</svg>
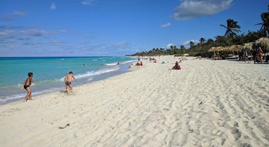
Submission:
<svg viewBox="0 0 269 147">
<path fill-rule="evenodd" d="M 268 0 L 0 0 L 0 56 L 121 56 L 258 30 Z"/>
</svg>

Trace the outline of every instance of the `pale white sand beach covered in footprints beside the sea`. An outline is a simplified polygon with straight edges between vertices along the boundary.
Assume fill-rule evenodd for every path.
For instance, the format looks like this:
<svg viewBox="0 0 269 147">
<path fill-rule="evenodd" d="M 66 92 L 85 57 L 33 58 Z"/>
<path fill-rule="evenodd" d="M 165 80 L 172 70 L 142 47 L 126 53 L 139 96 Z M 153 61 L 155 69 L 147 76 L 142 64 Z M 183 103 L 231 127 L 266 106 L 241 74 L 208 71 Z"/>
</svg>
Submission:
<svg viewBox="0 0 269 147">
<path fill-rule="evenodd" d="M 188 57 L 169 71 L 179 59 L 156 58 L 67 95 L 1 105 L 0 146 L 269 147 L 269 64 Z"/>
</svg>

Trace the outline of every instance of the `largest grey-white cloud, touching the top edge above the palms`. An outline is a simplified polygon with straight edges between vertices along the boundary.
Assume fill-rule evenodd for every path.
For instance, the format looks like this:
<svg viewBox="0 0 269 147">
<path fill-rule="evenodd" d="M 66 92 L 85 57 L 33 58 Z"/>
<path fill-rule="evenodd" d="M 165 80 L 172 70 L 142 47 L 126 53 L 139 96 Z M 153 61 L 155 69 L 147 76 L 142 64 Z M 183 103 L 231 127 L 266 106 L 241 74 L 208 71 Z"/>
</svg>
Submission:
<svg viewBox="0 0 269 147">
<path fill-rule="evenodd" d="M 225 9 L 228 9 L 233 0 L 183 0 L 181 4 L 174 9 L 171 15 L 175 20 L 183 21 L 201 16 L 214 15 Z"/>
</svg>

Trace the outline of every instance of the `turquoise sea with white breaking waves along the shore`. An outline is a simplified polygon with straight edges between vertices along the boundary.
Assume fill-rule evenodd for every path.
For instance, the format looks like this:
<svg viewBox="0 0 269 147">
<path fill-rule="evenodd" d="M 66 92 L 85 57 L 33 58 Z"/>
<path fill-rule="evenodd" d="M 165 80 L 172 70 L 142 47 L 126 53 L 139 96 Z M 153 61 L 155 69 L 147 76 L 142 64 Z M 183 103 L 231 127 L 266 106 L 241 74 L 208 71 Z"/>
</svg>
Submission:
<svg viewBox="0 0 269 147">
<path fill-rule="evenodd" d="M 72 71 L 81 85 L 127 72 L 128 57 L 0 57 L 0 104 L 23 99 L 27 73 L 34 73 L 32 96 L 65 89 L 64 77 Z M 117 62 L 120 64 L 117 65 Z M 87 64 L 87 67 L 83 64 Z"/>
</svg>

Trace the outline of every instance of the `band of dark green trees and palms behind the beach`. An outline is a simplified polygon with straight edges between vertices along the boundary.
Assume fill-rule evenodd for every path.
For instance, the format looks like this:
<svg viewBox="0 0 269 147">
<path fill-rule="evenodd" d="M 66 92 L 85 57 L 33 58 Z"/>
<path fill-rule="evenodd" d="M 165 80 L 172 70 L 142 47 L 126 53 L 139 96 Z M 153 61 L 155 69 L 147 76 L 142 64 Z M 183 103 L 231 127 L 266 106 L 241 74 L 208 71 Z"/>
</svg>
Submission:
<svg viewBox="0 0 269 147">
<path fill-rule="evenodd" d="M 176 55 L 181 56 L 184 53 L 188 53 L 191 56 L 206 56 L 208 49 L 212 47 L 226 47 L 232 45 L 243 45 L 249 42 L 255 42 L 255 40 L 261 37 L 269 37 L 269 5 L 268 12 L 261 14 L 262 23 L 256 24 L 261 25 L 261 29 L 258 31 L 249 30 L 246 34 L 242 33 L 238 35 L 241 26 L 238 25 L 237 21 L 232 19 L 226 20 L 226 25 L 220 25 L 226 29 L 224 36 L 216 36 L 215 40 L 208 38 L 200 38 L 200 42 L 195 45 L 194 42 L 190 42 L 190 48 L 185 49 L 183 45 L 180 48 L 176 46 L 170 46 L 168 49 L 153 48 L 149 51 L 142 51 L 133 54 L 133 56 L 154 56 L 154 55 Z M 132 56 L 132 55 L 131 55 Z"/>
</svg>

